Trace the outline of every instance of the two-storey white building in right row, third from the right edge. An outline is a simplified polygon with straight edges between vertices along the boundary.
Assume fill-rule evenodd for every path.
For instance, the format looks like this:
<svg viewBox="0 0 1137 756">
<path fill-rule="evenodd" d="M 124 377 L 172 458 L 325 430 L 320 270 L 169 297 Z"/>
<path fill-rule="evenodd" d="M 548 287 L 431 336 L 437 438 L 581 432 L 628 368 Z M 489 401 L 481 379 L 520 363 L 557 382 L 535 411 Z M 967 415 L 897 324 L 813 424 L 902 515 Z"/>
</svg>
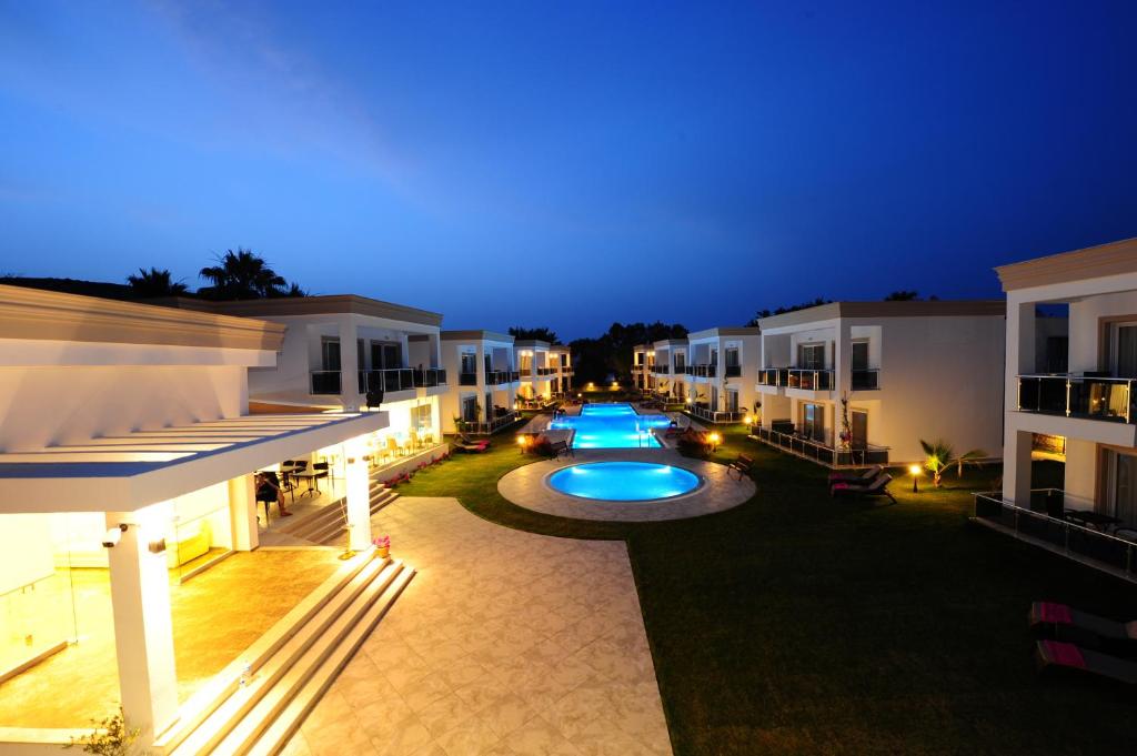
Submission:
<svg viewBox="0 0 1137 756">
<path fill-rule="evenodd" d="M 762 364 L 758 329 L 707 329 L 688 333 L 687 344 L 688 412 L 711 423 L 737 423 L 749 416 Z"/>
</svg>

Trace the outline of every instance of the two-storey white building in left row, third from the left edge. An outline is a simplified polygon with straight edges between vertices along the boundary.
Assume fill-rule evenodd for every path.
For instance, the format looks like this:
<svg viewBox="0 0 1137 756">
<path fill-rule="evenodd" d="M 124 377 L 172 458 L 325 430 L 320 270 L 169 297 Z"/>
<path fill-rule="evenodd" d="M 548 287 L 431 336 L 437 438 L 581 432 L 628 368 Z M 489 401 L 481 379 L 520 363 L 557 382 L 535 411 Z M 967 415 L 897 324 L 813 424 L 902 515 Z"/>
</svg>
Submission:
<svg viewBox="0 0 1137 756">
<path fill-rule="evenodd" d="M 448 433 L 488 434 L 513 424 L 521 373 L 514 339 L 492 331 L 442 331 L 442 366 L 451 382 L 442 400 Z"/>
</svg>

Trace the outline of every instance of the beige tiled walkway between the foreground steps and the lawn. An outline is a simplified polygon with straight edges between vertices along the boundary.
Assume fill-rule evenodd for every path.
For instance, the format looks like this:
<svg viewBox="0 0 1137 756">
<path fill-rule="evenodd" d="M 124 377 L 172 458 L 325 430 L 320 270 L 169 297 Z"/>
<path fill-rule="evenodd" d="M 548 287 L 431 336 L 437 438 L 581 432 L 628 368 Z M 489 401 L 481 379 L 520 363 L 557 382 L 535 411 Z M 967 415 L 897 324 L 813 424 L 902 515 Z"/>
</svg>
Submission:
<svg viewBox="0 0 1137 756">
<path fill-rule="evenodd" d="M 374 517 L 418 574 L 290 754 L 670 754 L 622 541 L 500 527 L 455 499 Z"/>
</svg>

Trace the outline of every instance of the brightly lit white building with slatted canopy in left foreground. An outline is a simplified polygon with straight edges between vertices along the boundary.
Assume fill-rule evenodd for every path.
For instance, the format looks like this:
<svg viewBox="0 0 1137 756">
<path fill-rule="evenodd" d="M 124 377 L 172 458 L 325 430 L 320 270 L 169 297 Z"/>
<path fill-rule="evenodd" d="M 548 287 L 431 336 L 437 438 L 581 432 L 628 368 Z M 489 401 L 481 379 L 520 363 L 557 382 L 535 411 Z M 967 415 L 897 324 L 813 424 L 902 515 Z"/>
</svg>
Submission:
<svg viewBox="0 0 1137 756">
<path fill-rule="evenodd" d="M 0 285 L 0 754 L 53 753 L 119 700 L 143 747 L 216 737 L 233 753 L 226 733 L 281 695 L 268 671 L 285 663 L 282 633 L 343 653 L 321 610 L 277 601 L 269 616 L 258 600 L 297 578 L 255 551 L 254 473 L 337 454 L 366 554 L 290 559 L 363 578 L 377 570 L 363 449 L 388 416 L 250 415 L 249 371 L 272 369 L 284 339 L 260 319 Z M 259 646 L 249 626 L 266 630 Z M 234 696 L 251 708 L 222 706 Z M 277 723 L 260 745 L 291 732 Z"/>
</svg>

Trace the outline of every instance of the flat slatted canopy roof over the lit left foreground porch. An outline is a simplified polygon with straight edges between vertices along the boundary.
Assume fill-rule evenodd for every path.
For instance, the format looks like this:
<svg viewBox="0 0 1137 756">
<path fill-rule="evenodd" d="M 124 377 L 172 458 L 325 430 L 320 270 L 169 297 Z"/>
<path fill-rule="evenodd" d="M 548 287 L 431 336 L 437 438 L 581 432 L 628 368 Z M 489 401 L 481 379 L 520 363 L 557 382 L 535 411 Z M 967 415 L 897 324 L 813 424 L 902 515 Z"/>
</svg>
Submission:
<svg viewBox="0 0 1137 756">
<path fill-rule="evenodd" d="M 387 424 L 370 412 L 242 415 L 0 454 L 0 513 L 133 512 Z"/>
</svg>

